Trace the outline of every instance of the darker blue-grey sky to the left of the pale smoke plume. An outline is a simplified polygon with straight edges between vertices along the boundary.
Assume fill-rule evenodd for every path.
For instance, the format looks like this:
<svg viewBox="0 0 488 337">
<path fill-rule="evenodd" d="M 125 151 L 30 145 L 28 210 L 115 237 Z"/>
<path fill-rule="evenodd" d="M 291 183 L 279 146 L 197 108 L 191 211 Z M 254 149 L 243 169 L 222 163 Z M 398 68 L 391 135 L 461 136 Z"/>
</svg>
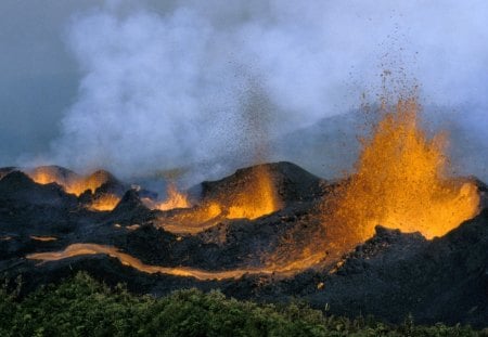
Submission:
<svg viewBox="0 0 488 337">
<path fill-rule="evenodd" d="M 0 165 L 48 151 L 60 133 L 81 78 L 66 43 L 69 23 L 73 15 L 103 3 L 0 1 Z"/>
</svg>

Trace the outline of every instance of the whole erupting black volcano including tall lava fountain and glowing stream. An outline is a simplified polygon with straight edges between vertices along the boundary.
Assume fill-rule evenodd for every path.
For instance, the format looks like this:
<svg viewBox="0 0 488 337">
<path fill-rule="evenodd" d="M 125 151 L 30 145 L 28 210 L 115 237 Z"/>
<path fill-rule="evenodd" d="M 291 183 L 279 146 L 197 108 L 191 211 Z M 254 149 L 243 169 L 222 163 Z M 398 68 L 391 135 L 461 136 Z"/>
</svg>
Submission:
<svg viewBox="0 0 488 337">
<path fill-rule="evenodd" d="M 439 255 L 453 278 L 439 288 L 445 293 L 428 296 L 447 296 L 465 274 L 478 289 L 483 257 L 459 275 L 450 263 L 459 251 L 472 259 L 463 250 L 466 239 L 486 254 L 486 185 L 451 177 L 447 138 L 426 135 L 414 99 L 384 104 L 378 114 L 354 172 L 334 182 L 291 163 L 261 164 L 189 191 L 170 182 L 162 200 L 105 171 L 82 177 L 51 166 L 23 170 L 27 177 L 1 169 L 0 200 L 15 209 L 0 209 L 2 265 L 31 280 L 88 268 L 157 291 L 218 283 L 235 294 L 242 285 L 246 298 L 295 296 L 306 282 L 300 294 L 323 303 L 350 301 L 364 280 L 377 296 L 393 282 L 404 284 L 402 296 L 415 297 L 412 291 L 428 286 L 412 285 L 404 271 L 424 270 L 420 283 L 442 278 L 425 258 Z M 470 228 L 479 236 L 465 238 Z"/>
</svg>

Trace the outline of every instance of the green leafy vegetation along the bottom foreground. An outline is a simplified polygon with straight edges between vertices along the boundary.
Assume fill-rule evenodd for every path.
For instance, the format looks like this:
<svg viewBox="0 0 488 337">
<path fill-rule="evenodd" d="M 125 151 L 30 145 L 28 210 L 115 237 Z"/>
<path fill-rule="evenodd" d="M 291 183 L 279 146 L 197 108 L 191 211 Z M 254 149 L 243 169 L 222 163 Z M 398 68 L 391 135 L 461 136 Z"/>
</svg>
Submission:
<svg viewBox="0 0 488 337">
<path fill-rule="evenodd" d="M 155 299 L 110 288 L 86 273 L 23 299 L 0 289 L 0 336 L 488 336 L 470 327 L 389 326 L 305 304 L 258 304 L 219 291 L 179 290 Z"/>
</svg>

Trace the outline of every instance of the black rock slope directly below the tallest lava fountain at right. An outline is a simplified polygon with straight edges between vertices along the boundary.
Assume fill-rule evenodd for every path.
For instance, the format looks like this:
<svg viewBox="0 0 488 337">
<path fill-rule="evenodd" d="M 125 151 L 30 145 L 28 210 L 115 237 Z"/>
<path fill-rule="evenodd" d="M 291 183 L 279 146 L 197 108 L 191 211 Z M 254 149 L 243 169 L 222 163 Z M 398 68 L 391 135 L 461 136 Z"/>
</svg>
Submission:
<svg viewBox="0 0 488 337">
<path fill-rule="evenodd" d="M 386 234 L 386 235 L 385 235 Z M 380 230 L 332 275 L 323 290 L 305 296 L 334 313 L 371 313 L 400 322 L 458 322 L 486 326 L 488 317 L 488 210 L 446 236 L 427 242 L 419 234 Z"/>
</svg>

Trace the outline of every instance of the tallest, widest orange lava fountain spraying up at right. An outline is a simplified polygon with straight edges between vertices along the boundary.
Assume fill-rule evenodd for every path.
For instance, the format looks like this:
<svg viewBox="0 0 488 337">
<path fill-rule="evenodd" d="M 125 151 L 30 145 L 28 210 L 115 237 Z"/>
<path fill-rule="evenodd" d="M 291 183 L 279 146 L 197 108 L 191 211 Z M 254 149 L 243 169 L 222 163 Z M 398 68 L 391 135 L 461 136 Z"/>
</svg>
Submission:
<svg viewBox="0 0 488 337">
<path fill-rule="evenodd" d="M 363 242 L 377 224 L 433 238 L 477 215 L 476 185 L 447 177 L 446 139 L 427 139 L 418 112 L 409 99 L 386 113 L 364 142 L 356 173 L 324 203 L 323 223 L 335 244 Z"/>
</svg>

